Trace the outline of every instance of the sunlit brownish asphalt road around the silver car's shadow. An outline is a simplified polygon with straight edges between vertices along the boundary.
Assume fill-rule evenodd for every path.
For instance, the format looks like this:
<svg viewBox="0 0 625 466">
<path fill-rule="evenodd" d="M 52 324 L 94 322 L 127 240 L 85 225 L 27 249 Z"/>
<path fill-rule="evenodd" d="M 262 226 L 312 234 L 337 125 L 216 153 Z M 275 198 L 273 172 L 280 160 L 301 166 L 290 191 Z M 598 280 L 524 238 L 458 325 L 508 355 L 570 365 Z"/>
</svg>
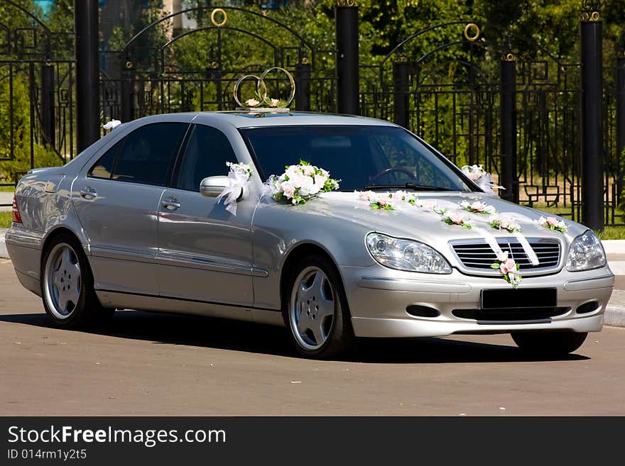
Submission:
<svg viewBox="0 0 625 466">
<path fill-rule="evenodd" d="M 625 328 L 530 360 L 509 335 L 371 340 L 344 360 L 293 355 L 280 328 L 118 312 L 50 326 L 0 260 L 0 415 L 624 415 Z"/>
</svg>

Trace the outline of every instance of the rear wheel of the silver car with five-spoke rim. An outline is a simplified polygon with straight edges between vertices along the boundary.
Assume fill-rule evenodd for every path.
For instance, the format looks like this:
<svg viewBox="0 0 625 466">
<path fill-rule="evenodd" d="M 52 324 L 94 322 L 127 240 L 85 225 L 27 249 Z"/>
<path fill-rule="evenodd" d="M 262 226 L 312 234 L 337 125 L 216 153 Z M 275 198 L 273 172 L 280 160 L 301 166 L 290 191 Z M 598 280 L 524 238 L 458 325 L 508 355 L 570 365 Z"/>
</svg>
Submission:
<svg viewBox="0 0 625 466">
<path fill-rule="evenodd" d="M 86 328 L 114 314 L 97 299 L 89 261 L 73 235 L 60 233 L 45 248 L 40 277 L 43 307 L 56 326 Z"/>
</svg>

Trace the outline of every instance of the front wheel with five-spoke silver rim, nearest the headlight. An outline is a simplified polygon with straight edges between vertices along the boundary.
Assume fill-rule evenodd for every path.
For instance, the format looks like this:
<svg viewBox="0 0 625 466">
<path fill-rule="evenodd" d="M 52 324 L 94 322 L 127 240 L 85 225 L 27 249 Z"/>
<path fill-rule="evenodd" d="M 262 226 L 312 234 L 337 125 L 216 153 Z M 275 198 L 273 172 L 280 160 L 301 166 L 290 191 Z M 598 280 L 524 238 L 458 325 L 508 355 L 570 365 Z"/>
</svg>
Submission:
<svg viewBox="0 0 625 466">
<path fill-rule="evenodd" d="M 320 256 L 300 260 L 283 295 L 283 317 L 295 350 L 327 359 L 354 343 L 347 297 L 336 267 Z"/>
</svg>

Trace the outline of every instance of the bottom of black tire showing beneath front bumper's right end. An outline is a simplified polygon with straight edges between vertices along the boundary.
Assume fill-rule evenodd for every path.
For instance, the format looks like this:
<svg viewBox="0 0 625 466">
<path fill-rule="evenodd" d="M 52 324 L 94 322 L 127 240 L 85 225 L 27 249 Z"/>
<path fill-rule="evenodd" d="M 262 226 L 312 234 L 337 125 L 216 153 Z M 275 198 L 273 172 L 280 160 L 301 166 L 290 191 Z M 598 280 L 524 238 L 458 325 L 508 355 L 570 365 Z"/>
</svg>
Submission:
<svg viewBox="0 0 625 466">
<path fill-rule="evenodd" d="M 564 356 L 582 346 L 588 333 L 575 332 L 515 332 L 514 343 L 526 353 L 536 356 Z"/>
</svg>

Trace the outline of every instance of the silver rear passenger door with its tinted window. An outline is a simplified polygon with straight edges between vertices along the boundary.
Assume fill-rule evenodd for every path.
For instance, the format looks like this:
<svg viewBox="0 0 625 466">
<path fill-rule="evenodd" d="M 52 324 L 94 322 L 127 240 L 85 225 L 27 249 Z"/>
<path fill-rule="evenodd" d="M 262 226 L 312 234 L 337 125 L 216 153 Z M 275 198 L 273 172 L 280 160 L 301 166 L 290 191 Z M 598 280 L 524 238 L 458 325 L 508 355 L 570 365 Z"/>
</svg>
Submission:
<svg viewBox="0 0 625 466">
<path fill-rule="evenodd" d="M 72 199 L 89 238 L 96 289 L 158 296 L 158 206 L 188 128 L 141 126 L 75 179 Z"/>
</svg>

